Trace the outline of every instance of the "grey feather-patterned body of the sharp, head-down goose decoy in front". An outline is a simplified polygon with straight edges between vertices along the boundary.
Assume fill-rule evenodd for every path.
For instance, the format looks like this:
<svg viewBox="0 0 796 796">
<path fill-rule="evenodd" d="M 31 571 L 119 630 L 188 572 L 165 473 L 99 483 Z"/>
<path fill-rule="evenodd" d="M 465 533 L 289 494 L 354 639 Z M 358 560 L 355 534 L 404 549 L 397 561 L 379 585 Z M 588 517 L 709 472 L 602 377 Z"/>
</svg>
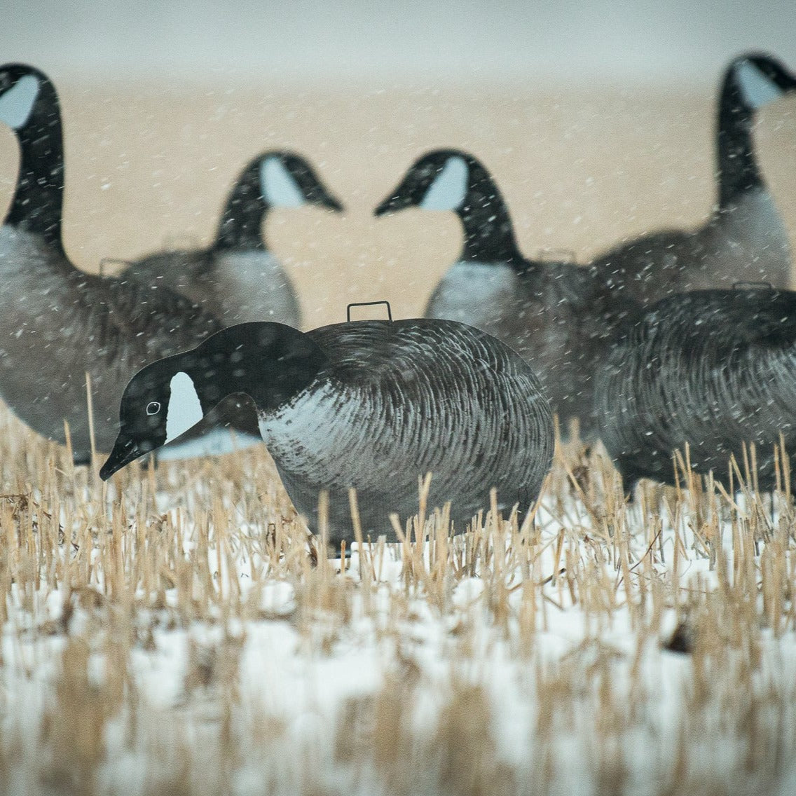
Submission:
<svg viewBox="0 0 796 796">
<path fill-rule="evenodd" d="M 418 507 L 417 479 L 431 472 L 430 505 L 451 501 L 461 533 L 497 488 L 498 504 L 533 503 L 552 459 L 552 417 L 540 384 L 517 354 L 451 322 L 359 322 L 310 338 L 327 353 L 322 381 L 275 412 L 260 433 L 296 509 L 314 524 L 318 484 L 330 492 L 336 540 L 351 527 L 356 486 L 363 527 L 388 533 Z M 392 538 L 392 537 L 391 537 Z"/>
</svg>

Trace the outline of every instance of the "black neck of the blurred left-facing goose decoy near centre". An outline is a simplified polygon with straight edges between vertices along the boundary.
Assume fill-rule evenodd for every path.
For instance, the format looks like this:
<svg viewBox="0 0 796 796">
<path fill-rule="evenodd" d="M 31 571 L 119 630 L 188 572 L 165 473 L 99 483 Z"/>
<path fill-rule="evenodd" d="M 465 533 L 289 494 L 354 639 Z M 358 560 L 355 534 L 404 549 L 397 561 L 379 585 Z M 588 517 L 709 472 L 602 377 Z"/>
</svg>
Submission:
<svg viewBox="0 0 796 796">
<path fill-rule="evenodd" d="M 467 193 L 456 211 L 464 228 L 461 259 L 469 262 L 509 263 L 525 267 L 514 228 L 500 190 L 489 172 L 474 158 L 467 162 Z"/>
</svg>

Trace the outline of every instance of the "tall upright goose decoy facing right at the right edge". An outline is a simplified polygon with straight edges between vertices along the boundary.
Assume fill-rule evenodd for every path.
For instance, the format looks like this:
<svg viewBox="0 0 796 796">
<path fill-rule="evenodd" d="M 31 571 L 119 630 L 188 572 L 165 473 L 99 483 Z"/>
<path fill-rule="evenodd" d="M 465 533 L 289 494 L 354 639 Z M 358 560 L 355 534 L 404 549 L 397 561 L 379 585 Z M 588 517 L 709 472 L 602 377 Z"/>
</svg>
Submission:
<svg viewBox="0 0 796 796">
<path fill-rule="evenodd" d="M 796 77 L 774 58 L 749 53 L 727 68 L 716 119 L 718 196 L 693 232 L 669 229 L 622 244 L 593 261 L 603 279 L 650 304 L 684 291 L 765 281 L 790 286 L 785 225 L 755 157 L 755 111 L 796 90 Z"/>
</svg>

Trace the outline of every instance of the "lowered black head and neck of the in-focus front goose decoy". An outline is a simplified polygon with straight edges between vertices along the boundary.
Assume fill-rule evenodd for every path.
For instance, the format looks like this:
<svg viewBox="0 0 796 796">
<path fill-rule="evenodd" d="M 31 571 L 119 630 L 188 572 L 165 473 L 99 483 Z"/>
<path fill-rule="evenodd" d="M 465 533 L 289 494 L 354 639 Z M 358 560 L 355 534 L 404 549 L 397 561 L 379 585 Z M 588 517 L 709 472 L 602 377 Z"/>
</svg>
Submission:
<svg viewBox="0 0 796 796">
<path fill-rule="evenodd" d="M 251 322 L 213 334 L 197 348 L 135 374 L 119 408 L 119 436 L 100 470 L 117 470 L 189 431 L 227 396 L 242 393 L 271 411 L 304 390 L 326 356 L 306 334 L 281 323 Z"/>
</svg>

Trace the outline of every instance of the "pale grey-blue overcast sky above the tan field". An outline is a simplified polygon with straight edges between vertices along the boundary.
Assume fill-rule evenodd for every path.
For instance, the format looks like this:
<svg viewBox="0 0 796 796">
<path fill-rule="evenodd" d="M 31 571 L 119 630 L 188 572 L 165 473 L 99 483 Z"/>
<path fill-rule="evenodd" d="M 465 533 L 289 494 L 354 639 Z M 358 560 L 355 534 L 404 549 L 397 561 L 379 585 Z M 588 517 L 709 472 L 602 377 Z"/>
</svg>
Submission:
<svg viewBox="0 0 796 796">
<path fill-rule="evenodd" d="M 2 60 L 93 76 L 700 80 L 766 49 L 794 0 L 4 0 Z"/>
</svg>

